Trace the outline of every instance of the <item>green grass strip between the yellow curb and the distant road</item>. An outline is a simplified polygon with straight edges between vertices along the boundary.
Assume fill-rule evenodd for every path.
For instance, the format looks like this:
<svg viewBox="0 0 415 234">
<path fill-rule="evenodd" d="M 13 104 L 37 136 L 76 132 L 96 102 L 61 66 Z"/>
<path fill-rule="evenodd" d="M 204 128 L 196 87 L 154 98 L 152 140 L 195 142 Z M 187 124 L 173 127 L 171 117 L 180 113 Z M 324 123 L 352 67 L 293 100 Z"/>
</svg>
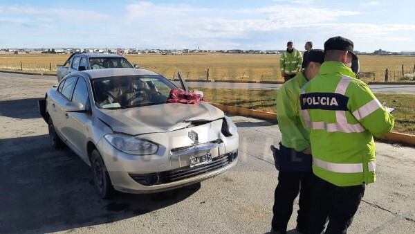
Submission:
<svg viewBox="0 0 415 234">
<path fill-rule="evenodd" d="M 277 90 L 264 89 L 201 89 L 205 99 L 222 105 L 276 112 Z M 415 95 L 375 93 L 380 103 L 394 107 L 394 132 L 415 134 Z"/>
</svg>

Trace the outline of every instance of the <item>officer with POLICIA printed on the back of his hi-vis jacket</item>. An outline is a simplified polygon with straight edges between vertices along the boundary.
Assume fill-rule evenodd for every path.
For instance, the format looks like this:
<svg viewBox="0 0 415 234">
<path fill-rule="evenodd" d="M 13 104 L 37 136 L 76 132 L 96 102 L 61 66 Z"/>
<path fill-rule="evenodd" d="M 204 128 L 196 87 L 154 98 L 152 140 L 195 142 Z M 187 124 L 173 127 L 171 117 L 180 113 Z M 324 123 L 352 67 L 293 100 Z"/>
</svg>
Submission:
<svg viewBox="0 0 415 234">
<path fill-rule="evenodd" d="M 309 233 L 347 233 L 365 193 L 375 181 L 374 136 L 394 127 L 394 117 L 382 107 L 367 84 L 356 79 L 353 42 L 332 37 L 324 43 L 320 74 L 302 88 L 304 125 L 313 148 L 313 206 Z M 353 62 L 354 60 L 354 62 Z M 354 64 L 354 71 L 351 65 Z"/>
</svg>

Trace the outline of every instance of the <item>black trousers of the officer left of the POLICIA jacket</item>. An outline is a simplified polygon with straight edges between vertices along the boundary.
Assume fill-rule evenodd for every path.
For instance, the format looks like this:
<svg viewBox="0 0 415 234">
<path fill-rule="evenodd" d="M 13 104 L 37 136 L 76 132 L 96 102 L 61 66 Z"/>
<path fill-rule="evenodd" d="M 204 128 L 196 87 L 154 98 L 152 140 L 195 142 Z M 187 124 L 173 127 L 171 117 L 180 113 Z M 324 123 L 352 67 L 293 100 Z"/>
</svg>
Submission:
<svg viewBox="0 0 415 234">
<path fill-rule="evenodd" d="M 311 206 L 313 172 L 279 172 L 275 188 L 272 227 L 275 231 L 286 233 L 287 224 L 293 213 L 294 199 L 299 192 L 297 226 L 307 227 Z"/>
</svg>

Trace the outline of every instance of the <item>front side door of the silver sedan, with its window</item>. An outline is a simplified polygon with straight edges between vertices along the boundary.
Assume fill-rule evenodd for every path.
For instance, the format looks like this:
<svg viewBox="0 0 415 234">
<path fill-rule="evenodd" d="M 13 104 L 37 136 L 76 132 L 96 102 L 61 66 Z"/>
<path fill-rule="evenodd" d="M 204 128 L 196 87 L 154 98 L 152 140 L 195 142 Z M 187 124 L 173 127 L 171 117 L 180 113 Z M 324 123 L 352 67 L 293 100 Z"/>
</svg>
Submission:
<svg viewBox="0 0 415 234">
<path fill-rule="evenodd" d="M 85 79 L 80 76 L 73 90 L 72 102 L 79 102 L 90 110 L 88 86 Z M 90 135 L 91 112 L 66 112 L 67 118 L 64 127 L 64 135 L 68 143 L 84 159 L 87 160 L 86 138 Z"/>
</svg>

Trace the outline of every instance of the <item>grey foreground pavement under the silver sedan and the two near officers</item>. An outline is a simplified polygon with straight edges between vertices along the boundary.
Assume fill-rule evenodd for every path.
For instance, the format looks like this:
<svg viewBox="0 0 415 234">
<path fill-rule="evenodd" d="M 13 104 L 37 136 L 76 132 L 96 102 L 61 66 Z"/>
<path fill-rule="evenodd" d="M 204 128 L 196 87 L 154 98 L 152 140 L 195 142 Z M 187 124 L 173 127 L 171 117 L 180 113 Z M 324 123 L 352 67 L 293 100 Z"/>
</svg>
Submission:
<svg viewBox="0 0 415 234">
<path fill-rule="evenodd" d="M 0 78 L 0 233 L 267 233 L 278 125 L 234 116 L 239 162 L 200 185 L 102 200 L 91 170 L 53 150 L 36 101 L 54 82 Z M 415 233 L 415 150 L 377 143 L 377 182 L 349 233 Z M 297 200 L 295 208 L 297 210 Z M 288 230 L 295 227 L 295 211 Z M 290 231 L 289 233 L 296 233 Z"/>
</svg>

